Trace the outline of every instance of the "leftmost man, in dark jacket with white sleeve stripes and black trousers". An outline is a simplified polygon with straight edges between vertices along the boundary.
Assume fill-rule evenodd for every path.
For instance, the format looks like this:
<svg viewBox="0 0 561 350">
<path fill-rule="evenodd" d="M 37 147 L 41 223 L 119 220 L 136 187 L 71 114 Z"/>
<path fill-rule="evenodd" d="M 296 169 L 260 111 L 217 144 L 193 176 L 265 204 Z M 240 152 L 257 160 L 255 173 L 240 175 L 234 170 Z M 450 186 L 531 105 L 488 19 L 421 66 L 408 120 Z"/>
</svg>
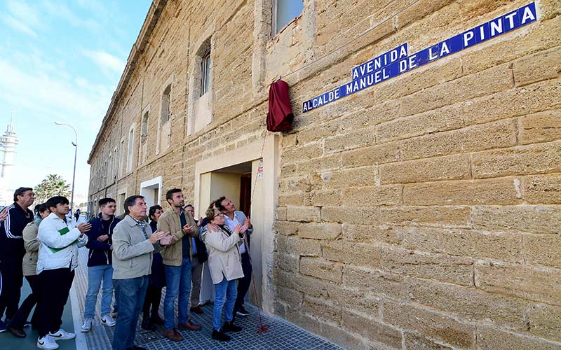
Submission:
<svg viewBox="0 0 561 350">
<path fill-rule="evenodd" d="M 29 207 L 35 196 L 33 189 L 20 187 L 13 194 L 14 203 L 8 206 L 8 216 L 0 225 L 0 273 L 2 290 L 0 293 L 0 332 L 7 329 L 9 320 L 18 311 L 23 283 L 22 262 L 25 255 L 23 229 L 33 221 Z M 6 320 L 2 315 L 6 311 Z"/>
</svg>

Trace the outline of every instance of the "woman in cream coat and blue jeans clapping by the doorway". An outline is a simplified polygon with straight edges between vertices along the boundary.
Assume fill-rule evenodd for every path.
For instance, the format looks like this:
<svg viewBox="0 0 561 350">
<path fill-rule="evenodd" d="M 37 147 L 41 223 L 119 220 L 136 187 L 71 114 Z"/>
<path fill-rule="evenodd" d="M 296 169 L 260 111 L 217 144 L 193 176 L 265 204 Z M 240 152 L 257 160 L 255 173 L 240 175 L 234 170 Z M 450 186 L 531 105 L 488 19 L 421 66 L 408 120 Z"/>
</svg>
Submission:
<svg viewBox="0 0 561 350">
<path fill-rule="evenodd" d="M 225 332 L 239 332 L 242 328 L 234 325 L 234 302 L 238 294 L 237 279 L 243 277 L 241 256 L 238 245 L 241 244 L 243 234 L 248 230 L 247 225 L 237 225 L 234 232 L 230 232 L 224 225 L 224 214 L 211 208 L 206 211 L 210 221 L 201 240 L 208 250 L 208 267 L 212 283 L 215 285 L 215 305 L 212 310 L 212 339 L 222 342 L 230 340 Z M 224 325 L 220 327 L 222 307 L 226 304 Z"/>
</svg>

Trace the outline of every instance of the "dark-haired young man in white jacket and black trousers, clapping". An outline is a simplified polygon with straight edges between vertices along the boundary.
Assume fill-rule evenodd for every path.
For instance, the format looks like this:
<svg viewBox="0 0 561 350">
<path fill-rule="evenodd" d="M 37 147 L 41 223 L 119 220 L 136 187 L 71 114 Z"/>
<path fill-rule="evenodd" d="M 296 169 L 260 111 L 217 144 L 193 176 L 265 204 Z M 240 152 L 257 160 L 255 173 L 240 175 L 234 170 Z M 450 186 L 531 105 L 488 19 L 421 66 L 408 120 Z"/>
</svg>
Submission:
<svg viewBox="0 0 561 350">
<path fill-rule="evenodd" d="M 71 228 L 67 219 L 69 211 L 66 197 L 55 196 L 46 202 L 50 215 L 41 221 L 37 239 L 39 260 L 37 274 L 39 286 L 44 293 L 37 304 L 39 310 L 39 349 L 58 349 L 55 340 L 74 339 L 76 335 L 62 329 L 62 311 L 68 300 L 74 280 L 74 269 L 78 267 L 78 248 L 85 246 L 90 229 L 89 223 Z"/>
</svg>

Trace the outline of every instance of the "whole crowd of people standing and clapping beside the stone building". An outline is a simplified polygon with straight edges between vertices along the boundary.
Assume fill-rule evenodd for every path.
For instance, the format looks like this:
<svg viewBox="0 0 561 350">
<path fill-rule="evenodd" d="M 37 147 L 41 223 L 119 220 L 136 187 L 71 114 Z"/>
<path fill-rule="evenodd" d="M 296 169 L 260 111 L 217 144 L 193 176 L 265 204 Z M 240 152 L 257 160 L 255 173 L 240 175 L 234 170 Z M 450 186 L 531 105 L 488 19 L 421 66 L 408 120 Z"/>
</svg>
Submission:
<svg viewBox="0 0 561 350">
<path fill-rule="evenodd" d="M 190 314 L 204 312 L 200 293 L 206 267 L 215 292 L 210 336 L 230 340 L 228 332 L 242 330 L 234 324 L 236 315 L 248 315 L 243 302 L 252 273 L 251 222 L 226 197 L 212 202 L 199 220 L 194 207 L 185 205 L 181 189 L 168 190 L 165 199 L 170 208 L 164 211 L 159 205 L 147 208 L 141 195 L 130 196 L 125 213 L 115 216 L 116 201 L 103 198 L 100 213 L 79 223 L 79 214 L 76 221 L 69 218 L 66 197 L 35 205 L 34 216 L 29 209 L 32 188 L 15 190 L 14 203 L 0 213 L 0 332 L 26 337 L 24 328 L 31 325 L 39 333 L 40 349 L 58 349 L 57 341 L 74 339 L 74 333 L 62 328 L 62 312 L 78 267 L 78 249 L 86 246 L 88 290 L 81 332 L 92 329 L 101 291 L 100 323 L 115 327 L 113 349 L 143 349 L 135 345 L 141 313 L 142 328 L 161 328 L 165 337 L 181 342 L 179 330 L 202 328 Z M 24 276 L 32 293 L 19 304 Z"/>
</svg>

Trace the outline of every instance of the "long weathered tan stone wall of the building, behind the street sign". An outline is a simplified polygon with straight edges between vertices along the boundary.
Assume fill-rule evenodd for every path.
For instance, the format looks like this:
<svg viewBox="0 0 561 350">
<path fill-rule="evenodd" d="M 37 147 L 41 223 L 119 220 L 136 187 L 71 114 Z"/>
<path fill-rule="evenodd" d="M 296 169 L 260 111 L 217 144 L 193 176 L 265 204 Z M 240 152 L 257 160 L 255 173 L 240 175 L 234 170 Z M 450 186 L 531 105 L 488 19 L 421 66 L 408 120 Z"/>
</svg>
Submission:
<svg viewBox="0 0 561 350">
<path fill-rule="evenodd" d="M 154 30 L 90 155 L 90 200 L 132 195 L 157 176 L 163 193 L 180 187 L 194 200 L 197 162 L 263 139 L 268 86 L 282 76 L 295 129 L 278 150 L 269 311 L 349 349 L 558 349 L 558 1 L 537 1 L 532 25 L 302 113 L 357 64 L 527 2 L 304 0 L 271 38 L 268 0 L 156 1 L 159 19 L 149 13 L 139 40 Z M 189 134 L 194 56 L 209 37 L 213 121 Z M 171 146 L 156 153 L 170 83 Z M 112 176 L 104 162 L 121 139 Z"/>
</svg>

